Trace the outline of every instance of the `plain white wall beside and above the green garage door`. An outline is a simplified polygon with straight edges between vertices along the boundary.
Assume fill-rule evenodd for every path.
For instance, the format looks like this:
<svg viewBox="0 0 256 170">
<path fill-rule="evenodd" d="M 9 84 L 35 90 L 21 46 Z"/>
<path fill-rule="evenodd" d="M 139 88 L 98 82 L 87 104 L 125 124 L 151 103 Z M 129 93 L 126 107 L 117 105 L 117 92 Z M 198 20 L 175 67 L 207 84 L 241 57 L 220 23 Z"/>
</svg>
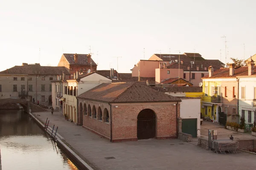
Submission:
<svg viewBox="0 0 256 170">
<path fill-rule="evenodd" d="M 200 99 L 181 99 L 180 117 L 182 119 L 197 119 L 197 136 L 200 137 Z"/>
</svg>

